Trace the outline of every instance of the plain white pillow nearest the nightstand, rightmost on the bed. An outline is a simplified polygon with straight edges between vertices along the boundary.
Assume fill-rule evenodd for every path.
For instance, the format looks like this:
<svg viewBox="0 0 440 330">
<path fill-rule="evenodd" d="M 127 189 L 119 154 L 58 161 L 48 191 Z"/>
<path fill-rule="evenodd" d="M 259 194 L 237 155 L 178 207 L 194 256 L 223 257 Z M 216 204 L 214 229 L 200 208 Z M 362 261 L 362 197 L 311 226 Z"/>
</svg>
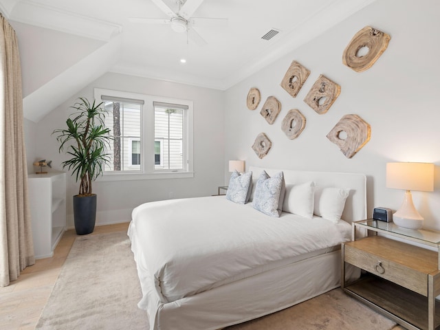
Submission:
<svg viewBox="0 0 440 330">
<path fill-rule="evenodd" d="M 318 217 L 338 222 L 344 211 L 350 190 L 342 188 L 316 188 L 314 213 Z"/>
</svg>

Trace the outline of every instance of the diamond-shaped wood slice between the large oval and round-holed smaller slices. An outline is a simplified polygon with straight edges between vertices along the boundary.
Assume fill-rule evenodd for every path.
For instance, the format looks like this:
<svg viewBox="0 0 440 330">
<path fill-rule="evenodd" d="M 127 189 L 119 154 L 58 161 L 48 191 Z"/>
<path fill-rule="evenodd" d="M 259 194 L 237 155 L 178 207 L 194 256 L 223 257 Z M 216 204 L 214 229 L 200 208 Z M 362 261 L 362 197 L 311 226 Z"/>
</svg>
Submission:
<svg viewBox="0 0 440 330">
<path fill-rule="evenodd" d="M 340 85 L 333 83 L 329 78 L 319 76 L 304 99 L 311 109 L 322 114 L 329 111 L 331 104 L 335 102 L 341 93 Z"/>
</svg>

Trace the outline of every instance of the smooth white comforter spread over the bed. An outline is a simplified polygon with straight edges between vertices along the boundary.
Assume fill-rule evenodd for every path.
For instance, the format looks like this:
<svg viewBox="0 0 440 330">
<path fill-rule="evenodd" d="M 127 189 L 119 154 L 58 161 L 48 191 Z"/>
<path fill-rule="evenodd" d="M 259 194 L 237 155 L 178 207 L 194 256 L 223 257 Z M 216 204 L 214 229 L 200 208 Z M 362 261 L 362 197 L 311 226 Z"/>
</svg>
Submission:
<svg viewBox="0 0 440 330">
<path fill-rule="evenodd" d="M 350 235 L 345 221 L 285 212 L 268 217 L 252 203 L 224 197 L 144 203 L 133 210 L 129 228 L 137 267 L 154 281 L 162 303 L 279 267 L 283 260 L 349 241 Z"/>
</svg>

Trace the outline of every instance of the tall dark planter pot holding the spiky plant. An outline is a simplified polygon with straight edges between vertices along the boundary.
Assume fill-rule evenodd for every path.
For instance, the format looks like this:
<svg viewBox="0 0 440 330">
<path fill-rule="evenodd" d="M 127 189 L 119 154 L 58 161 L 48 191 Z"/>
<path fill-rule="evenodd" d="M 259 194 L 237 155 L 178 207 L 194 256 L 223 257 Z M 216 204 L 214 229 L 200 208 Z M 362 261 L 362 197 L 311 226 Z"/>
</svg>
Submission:
<svg viewBox="0 0 440 330">
<path fill-rule="evenodd" d="M 96 195 L 74 196 L 74 221 L 78 235 L 87 235 L 94 231 L 96 220 Z"/>
</svg>

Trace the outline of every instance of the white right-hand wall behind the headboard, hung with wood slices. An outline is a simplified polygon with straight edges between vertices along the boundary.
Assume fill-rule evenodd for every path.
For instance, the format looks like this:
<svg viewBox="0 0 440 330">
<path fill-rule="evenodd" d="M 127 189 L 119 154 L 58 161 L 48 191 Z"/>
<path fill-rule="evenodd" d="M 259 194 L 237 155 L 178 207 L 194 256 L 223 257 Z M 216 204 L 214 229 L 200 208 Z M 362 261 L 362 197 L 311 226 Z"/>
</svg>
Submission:
<svg viewBox="0 0 440 330">
<path fill-rule="evenodd" d="M 412 192 L 425 226 L 440 229 L 440 1 L 381 0 L 313 41 L 230 88 L 225 96 L 225 161 L 243 159 L 246 166 L 365 173 L 368 210 L 399 208 L 403 190 L 385 187 L 386 162 L 432 162 L 436 165 L 434 192 Z M 388 49 L 366 72 L 342 64 L 342 52 L 365 25 L 391 35 Z M 296 98 L 280 87 L 290 63 L 296 60 L 311 74 Z M 341 94 L 326 114 L 318 115 L 303 99 L 320 74 L 341 86 Z M 261 104 L 250 111 L 246 96 L 261 91 Z M 259 111 L 268 96 L 282 103 L 271 126 Z M 296 140 L 288 140 L 281 122 L 289 109 L 299 109 L 307 126 Z M 360 115 L 371 125 L 371 140 L 347 159 L 326 135 L 343 115 Z M 272 150 L 259 159 L 252 151 L 258 133 L 272 140 Z M 225 165 L 225 182 L 228 181 Z"/>
</svg>

